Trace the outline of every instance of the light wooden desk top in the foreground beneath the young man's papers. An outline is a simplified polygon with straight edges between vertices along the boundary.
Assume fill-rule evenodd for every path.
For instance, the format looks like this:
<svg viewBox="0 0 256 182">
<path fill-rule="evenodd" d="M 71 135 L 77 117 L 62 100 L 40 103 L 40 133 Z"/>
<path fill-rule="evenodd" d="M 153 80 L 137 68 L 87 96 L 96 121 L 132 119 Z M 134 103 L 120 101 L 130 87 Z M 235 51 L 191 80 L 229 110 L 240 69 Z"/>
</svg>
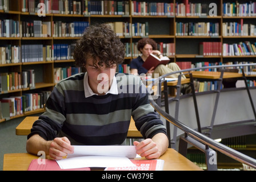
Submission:
<svg viewBox="0 0 256 182">
<path fill-rule="evenodd" d="M 37 155 L 27 153 L 5 154 L 3 156 L 3 171 L 27 171 L 31 161 L 38 158 Z M 202 171 L 173 148 L 168 148 L 160 159 L 165 160 L 164 171 Z"/>
</svg>

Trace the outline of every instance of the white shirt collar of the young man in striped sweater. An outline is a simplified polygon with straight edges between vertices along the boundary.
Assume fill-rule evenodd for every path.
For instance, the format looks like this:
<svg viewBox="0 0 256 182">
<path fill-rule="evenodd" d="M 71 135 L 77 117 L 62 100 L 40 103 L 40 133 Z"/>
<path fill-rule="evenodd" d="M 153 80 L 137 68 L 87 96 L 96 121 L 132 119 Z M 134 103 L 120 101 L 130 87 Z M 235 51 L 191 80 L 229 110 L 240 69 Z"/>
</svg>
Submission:
<svg viewBox="0 0 256 182">
<path fill-rule="evenodd" d="M 85 89 L 85 97 L 90 97 L 90 96 L 93 96 L 93 95 L 98 95 L 97 93 L 94 93 L 93 90 L 91 90 L 91 88 L 90 88 L 87 72 L 85 73 L 85 77 L 83 78 L 83 87 Z M 115 94 L 115 95 L 118 94 L 117 78 L 115 78 L 115 76 L 113 77 L 110 89 L 109 89 L 109 91 L 107 91 L 106 94 L 108 94 L 108 93 Z"/>
</svg>

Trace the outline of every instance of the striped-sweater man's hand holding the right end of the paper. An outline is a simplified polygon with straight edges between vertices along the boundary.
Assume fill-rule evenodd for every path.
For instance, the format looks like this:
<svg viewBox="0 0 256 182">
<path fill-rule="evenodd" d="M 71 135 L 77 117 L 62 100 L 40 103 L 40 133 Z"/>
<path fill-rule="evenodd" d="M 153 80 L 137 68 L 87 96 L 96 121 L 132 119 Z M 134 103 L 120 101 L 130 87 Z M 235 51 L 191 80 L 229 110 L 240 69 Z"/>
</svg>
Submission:
<svg viewBox="0 0 256 182">
<path fill-rule="evenodd" d="M 161 152 L 157 147 L 157 143 L 155 143 L 152 139 L 145 139 L 142 142 L 133 142 L 134 146 L 136 146 L 137 154 L 145 157 L 147 159 L 158 159 L 161 156 Z"/>
</svg>

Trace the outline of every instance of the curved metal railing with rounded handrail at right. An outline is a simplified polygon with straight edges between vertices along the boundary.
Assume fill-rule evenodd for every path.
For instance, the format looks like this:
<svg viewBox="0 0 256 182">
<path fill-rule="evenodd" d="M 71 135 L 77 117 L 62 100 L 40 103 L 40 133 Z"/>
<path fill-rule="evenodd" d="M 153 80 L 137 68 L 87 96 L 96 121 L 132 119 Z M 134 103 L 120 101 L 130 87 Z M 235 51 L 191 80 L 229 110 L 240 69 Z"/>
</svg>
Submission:
<svg viewBox="0 0 256 182">
<path fill-rule="evenodd" d="M 191 69 L 183 69 L 182 71 L 176 71 L 171 72 L 166 75 L 160 76 L 157 81 L 152 82 L 148 88 L 151 89 L 153 85 L 159 84 L 163 78 L 169 75 L 173 75 L 175 73 L 181 73 L 182 72 L 191 72 L 191 71 L 197 71 L 198 69 L 213 69 L 213 68 L 226 68 L 226 67 L 238 67 L 242 68 L 247 66 L 255 66 L 256 64 L 236 64 L 236 65 L 219 65 L 219 66 L 212 66 L 212 67 L 202 67 L 202 68 L 191 68 Z M 223 76 L 223 75 L 222 75 Z M 181 77 L 179 76 L 179 79 Z M 160 85 L 159 85 L 160 86 Z M 161 90 L 161 89 L 160 89 Z M 161 92 L 161 91 L 159 91 Z M 161 96 L 161 93 L 159 94 Z M 249 94 L 250 96 L 250 94 Z M 182 130 L 185 133 L 185 137 L 181 137 L 179 141 L 179 152 L 186 156 L 187 152 L 187 143 L 192 144 L 193 146 L 197 147 L 199 150 L 205 152 L 206 155 L 206 164 L 208 170 L 217 170 L 217 159 L 216 159 L 216 152 L 211 150 L 213 148 L 216 151 L 221 152 L 222 154 L 225 154 L 226 156 L 229 156 L 232 159 L 237 160 L 238 162 L 241 162 L 243 164 L 246 164 L 250 167 L 253 167 L 256 169 L 256 160 L 251 158 L 250 156 L 247 156 L 245 154 L 242 154 L 241 152 L 238 152 L 230 147 L 225 146 L 222 143 L 218 143 L 215 140 L 207 137 L 206 135 L 203 135 L 202 133 L 199 133 L 198 131 L 195 131 L 193 129 L 190 129 L 190 127 L 184 125 L 182 122 L 179 122 L 178 119 L 175 119 L 168 113 L 166 113 L 165 110 L 159 106 L 153 100 L 152 96 L 149 96 L 150 104 L 154 107 L 154 109 L 163 117 L 166 119 L 166 121 L 170 122 L 174 126 L 178 127 L 180 130 Z"/>
</svg>

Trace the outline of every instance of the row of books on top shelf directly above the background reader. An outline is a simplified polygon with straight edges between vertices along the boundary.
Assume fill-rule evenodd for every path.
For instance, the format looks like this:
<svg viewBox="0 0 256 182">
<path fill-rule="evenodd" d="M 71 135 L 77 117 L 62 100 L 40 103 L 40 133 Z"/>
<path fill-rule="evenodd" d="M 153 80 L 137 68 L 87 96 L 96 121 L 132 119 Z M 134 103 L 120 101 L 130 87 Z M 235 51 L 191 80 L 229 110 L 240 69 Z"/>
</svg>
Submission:
<svg viewBox="0 0 256 182">
<path fill-rule="evenodd" d="M 131 15 L 173 16 L 174 3 L 131 1 Z"/>
</svg>

